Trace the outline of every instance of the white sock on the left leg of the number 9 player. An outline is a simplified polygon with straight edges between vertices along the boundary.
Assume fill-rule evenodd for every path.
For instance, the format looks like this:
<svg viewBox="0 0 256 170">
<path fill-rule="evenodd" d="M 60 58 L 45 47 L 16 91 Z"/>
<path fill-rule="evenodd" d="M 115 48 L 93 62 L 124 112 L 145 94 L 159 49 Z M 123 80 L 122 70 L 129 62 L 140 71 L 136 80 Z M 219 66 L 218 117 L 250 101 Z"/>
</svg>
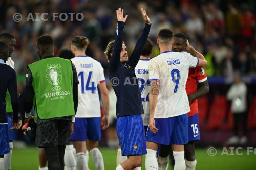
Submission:
<svg viewBox="0 0 256 170">
<path fill-rule="evenodd" d="M 146 151 L 147 151 L 146 160 L 145 160 L 146 170 L 158 169 L 158 163 L 156 158 L 157 151 L 148 149 L 148 148 L 146 149 Z"/>
</svg>

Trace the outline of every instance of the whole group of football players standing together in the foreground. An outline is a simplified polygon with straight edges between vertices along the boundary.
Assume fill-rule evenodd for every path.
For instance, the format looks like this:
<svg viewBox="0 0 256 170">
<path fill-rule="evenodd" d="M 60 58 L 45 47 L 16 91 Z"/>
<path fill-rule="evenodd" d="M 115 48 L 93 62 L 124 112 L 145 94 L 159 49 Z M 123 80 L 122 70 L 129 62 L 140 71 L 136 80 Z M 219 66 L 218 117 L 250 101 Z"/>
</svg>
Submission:
<svg viewBox="0 0 256 170">
<path fill-rule="evenodd" d="M 105 50 L 117 98 L 116 169 L 141 169 L 142 155 L 147 170 L 167 169 L 168 156 L 175 170 L 196 169 L 197 99 L 209 91 L 204 71 L 207 61 L 184 34 L 173 35 L 168 28 L 158 32 L 160 54 L 150 59 L 151 21 L 142 8 L 145 26 L 129 56 L 123 40 L 128 16 L 123 12 L 116 10 L 116 37 Z M 0 170 L 11 168 L 11 130 L 22 126 L 10 58 L 14 40 L 8 33 L 0 34 L 0 69 L 9 73 L 0 76 Z M 88 38 L 76 36 L 71 41 L 72 52 L 62 51 L 55 57 L 52 37 L 37 39 L 40 60 L 27 66 L 23 130 L 39 148 L 39 169 L 87 170 L 89 153 L 96 169 L 109 169 L 104 167 L 98 145 L 101 129 L 109 126 L 111 101 L 101 64 L 86 55 L 88 45 Z"/>
</svg>

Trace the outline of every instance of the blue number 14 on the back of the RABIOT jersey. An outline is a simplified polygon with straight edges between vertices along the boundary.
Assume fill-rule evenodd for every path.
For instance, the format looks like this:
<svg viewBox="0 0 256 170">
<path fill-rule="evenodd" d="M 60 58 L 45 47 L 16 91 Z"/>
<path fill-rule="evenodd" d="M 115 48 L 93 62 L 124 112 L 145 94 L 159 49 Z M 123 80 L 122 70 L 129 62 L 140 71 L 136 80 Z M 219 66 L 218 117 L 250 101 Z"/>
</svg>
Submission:
<svg viewBox="0 0 256 170">
<path fill-rule="evenodd" d="M 95 87 L 95 82 L 92 82 L 92 77 L 93 77 L 93 71 L 90 71 L 86 81 L 85 89 L 86 91 L 91 91 L 92 94 L 95 94 L 96 87 Z M 79 72 L 78 78 L 81 78 L 82 94 L 85 94 L 86 92 L 84 91 L 84 72 L 83 71 Z"/>
</svg>

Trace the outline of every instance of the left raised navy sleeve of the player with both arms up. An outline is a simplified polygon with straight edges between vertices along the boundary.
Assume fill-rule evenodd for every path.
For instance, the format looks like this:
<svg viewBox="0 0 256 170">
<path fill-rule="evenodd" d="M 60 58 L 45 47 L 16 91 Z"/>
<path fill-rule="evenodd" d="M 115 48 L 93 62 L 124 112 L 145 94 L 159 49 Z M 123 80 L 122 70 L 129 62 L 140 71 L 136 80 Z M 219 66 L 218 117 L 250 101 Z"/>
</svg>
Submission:
<svg viewBox="0 0 256 170">
<path fill-rule="evenodd" d="M 110 59 L 110 66 L 109 66 L 110 71 L 114 71 L 118 67 L 120 62 L 120 54 L 121 54 L 122 43 L 123 43 L 123 28 L 124 28 L 124 22 L 118 21 L 113 54 Z"/>
</svg>

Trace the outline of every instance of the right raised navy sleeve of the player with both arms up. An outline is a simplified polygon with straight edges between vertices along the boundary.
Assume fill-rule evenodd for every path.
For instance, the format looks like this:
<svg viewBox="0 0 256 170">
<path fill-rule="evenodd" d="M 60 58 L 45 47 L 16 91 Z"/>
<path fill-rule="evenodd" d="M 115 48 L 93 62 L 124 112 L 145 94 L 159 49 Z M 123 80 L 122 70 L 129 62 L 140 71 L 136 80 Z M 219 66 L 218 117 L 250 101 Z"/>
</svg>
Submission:
<svg viewBox="0 0 256 170">
<path fill-rule="evenodd" d="M 151 28 L 151 24 L 149 25 L 146 23 L 142 33 L 140 34 L 140 36 L 136 42 L 134 51 L 133 51 L 131 57 L 129 58 L 129 63 L 131 64 L 131 66 L 133 68 L 135 68 L 137 63 L 139 62 L 140 55 L 142 53 L 142 50 L 143 50 L 145 43 L 147 41 L 147 38 L 148 38 L 148 34 L 150 34 L 150 28 Z"/>
</svg>

